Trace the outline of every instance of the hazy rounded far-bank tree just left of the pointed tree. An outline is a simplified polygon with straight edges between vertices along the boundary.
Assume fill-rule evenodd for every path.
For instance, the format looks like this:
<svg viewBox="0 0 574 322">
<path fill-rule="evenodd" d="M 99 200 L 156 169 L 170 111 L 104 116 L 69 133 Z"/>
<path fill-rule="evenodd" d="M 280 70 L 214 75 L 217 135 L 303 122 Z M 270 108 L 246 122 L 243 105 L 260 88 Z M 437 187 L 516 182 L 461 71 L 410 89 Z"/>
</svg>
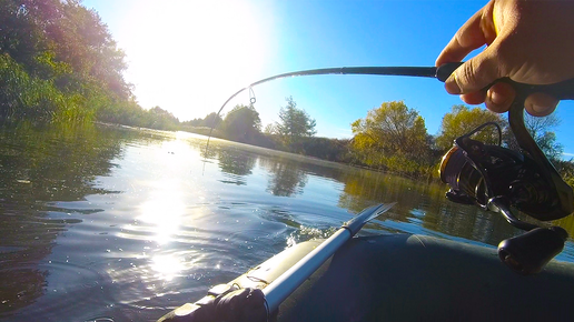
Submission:
<svg viewBox="0 0 574 322">
<path fill-rule="evenodd" d="M 254 107 L 237 105 L 225 117 L 222 128 L 228 139 L 251 142 L 260 133 L 261 120 Z"/>
</svg>

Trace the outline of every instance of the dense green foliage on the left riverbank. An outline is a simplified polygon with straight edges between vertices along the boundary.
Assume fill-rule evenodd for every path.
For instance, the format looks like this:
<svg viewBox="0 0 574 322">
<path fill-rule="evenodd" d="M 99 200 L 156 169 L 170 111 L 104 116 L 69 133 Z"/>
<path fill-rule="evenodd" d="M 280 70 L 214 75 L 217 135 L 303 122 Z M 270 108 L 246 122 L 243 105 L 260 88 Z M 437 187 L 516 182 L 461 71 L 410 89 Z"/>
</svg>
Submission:
<svg viewBox="0 0 574 322">
<path fill-rule="evenodd" d="M 0 118 L 156 129 L 179 122 L 136 103 L 125 53 L 79 1 L 0 0 Z"/>
</svg>

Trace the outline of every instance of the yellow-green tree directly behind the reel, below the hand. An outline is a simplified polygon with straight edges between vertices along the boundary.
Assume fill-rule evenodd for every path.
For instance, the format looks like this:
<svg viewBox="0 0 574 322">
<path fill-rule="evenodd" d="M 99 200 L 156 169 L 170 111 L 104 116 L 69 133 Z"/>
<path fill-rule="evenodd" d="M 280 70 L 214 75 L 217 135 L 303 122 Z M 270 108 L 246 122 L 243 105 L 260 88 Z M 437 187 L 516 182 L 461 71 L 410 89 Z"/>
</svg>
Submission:
<svg viewBox="0 0 574 322">
<path fill-rule="evenodd" d="M 442 151 L 446 151 L 453 147 L 456 138 L 471 132 L 486 122 L 496 122 L 504 127 L 506 124 L 499 114 L 488 110 L 454 105 L 452 112 L 443 117 L 441 134 L 438 134 L 435 141 L 436 147 Z M 493 127 L 487 127 L 476 133 L 474 138 L 485 143 L 496 144 L 498 142 L 498 132 Z"/>
</svg>

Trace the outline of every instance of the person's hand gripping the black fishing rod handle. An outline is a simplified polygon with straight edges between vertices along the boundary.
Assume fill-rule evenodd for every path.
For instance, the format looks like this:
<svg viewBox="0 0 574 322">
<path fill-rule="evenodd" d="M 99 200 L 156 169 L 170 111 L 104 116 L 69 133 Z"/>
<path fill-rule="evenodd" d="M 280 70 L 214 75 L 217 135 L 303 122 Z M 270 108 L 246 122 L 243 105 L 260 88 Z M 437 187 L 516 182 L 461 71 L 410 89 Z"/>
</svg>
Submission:
<svg viewBox="0 0 574 322">
<path fill-rule="evenodd" d="M 491 0 L 453 37 L 436 66 L 462 61 L 471 51 L 486 49 L 461 66 L 445 82 L 452 94 L 468 104 L 486 103 L 505 112 L 516 93 L 504 82 L 483 90 L 496 79 L 508 77 L 530 84 L 550 84 L 574 78 L 574 1 Z M 525 109 L 533 115 L 547 115 L 558 101 L 533 93 Z"/>
</svg>

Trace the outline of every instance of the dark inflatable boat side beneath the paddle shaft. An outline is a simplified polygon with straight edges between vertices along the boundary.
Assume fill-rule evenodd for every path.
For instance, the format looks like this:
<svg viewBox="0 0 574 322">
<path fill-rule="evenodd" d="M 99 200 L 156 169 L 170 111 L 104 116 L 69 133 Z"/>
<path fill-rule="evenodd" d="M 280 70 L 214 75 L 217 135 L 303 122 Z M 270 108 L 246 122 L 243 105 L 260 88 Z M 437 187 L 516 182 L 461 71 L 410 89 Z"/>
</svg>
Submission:
<svg viewBox="0 0 574 322">
<path fill-rule="evenodd" d="M 287 249 L 231 281 L 265 288 L 317 246 Z M 277 321 L 574 321 L 574 265 L 536 275 L 495 249 L 432 237 L 354 238 L 279 308 Z"/>
</svg>

